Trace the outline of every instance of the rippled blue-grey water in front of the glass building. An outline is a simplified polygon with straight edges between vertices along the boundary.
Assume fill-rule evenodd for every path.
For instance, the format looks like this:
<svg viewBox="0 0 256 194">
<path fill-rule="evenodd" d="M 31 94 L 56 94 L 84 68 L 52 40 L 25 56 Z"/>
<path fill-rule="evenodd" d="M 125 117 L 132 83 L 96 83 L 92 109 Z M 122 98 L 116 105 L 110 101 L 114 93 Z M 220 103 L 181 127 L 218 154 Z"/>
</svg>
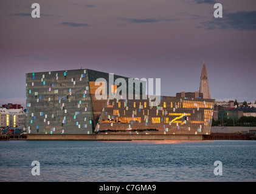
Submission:
<svg viewBox="0 0 256 194">
<path fill-rule="evenodd" d="M 0 141 L 0 181 L 256 181 L 256 141 Z"/>
</svg>

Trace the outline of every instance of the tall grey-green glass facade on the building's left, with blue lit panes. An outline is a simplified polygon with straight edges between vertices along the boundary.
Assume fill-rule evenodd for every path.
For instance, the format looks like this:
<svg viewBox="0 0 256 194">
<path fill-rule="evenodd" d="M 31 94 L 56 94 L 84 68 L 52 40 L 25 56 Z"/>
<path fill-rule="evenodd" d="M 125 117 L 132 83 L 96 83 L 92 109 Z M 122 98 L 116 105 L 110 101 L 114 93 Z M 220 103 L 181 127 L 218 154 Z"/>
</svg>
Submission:
<svg viewBox="0 0 256 194">
<path fill-rule="evenodd" d="M 26 74 L 27 132 L 92 134 L 87 70 Z"/>
</svg>

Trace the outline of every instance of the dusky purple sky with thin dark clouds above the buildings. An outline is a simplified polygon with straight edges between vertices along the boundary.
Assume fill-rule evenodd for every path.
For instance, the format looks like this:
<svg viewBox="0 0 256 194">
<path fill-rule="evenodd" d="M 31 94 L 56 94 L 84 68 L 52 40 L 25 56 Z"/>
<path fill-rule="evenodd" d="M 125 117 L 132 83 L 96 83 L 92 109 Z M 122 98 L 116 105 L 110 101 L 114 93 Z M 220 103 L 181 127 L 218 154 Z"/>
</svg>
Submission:
<svg viewBox="0 0 256 194">
<path fill-rule="evenodd" d="M 0 26 L 0 106 L 26 106 L 26 73 L 81 68 L 195 92 L 203 62 L 211 98 L 256 100 L 255 0 L 1 0 Z"/>
</svg>

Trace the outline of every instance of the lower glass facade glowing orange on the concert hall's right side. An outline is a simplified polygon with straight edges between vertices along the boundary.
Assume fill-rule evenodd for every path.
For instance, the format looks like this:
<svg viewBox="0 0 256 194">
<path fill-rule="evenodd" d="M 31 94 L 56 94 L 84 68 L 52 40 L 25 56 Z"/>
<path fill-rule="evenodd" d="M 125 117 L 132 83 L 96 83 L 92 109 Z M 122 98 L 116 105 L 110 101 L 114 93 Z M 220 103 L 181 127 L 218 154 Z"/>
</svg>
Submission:
<svg viewBox="0 0 256 194">
<path fill-rule="evenodd" d="M 151 106 L 150 99 L 108 99 L 95 133 L 207 135 L 214 102 L 161 96 L 159 106 Z"/>
</svg>

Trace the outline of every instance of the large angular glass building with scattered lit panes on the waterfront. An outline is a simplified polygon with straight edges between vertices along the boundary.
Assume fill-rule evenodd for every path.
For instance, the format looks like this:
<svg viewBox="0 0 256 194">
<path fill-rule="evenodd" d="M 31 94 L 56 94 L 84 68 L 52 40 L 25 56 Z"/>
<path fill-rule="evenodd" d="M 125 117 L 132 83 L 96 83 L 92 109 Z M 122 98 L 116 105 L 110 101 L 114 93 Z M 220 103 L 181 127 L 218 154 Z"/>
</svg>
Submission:
<svg viewBox="0 0 256 194">
<path fill-rule="evenodd" d="M 99 78 L 106 82 L 100 82 Z M 116 98 L 120 79 L 126 94 Z M 89 69 L 26 74 L 27 132 L 32 134 L 209 134 L 214 99 L 152 96 L 147 82 Z M 97 98 L 97 90 L 102 88 Z M 124 92 L 124 91 L 122 91 Z M 139 92 L 139 95 L 137 95 Z M 98 93 L 99 94 L 99 93 Z M 144 98 L 146 96 L 146 98 Z M 112 97 L 112 98 L 111 98 Z"/>
</svg>

